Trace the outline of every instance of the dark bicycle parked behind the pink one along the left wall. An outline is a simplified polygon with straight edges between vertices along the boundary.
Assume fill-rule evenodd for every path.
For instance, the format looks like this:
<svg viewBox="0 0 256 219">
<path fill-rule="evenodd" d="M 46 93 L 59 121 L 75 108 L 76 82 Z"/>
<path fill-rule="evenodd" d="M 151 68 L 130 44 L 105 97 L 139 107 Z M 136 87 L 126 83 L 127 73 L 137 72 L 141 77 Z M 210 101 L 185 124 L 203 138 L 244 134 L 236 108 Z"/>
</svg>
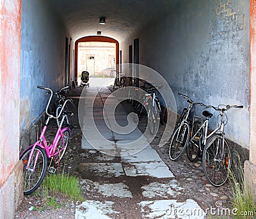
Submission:
<svg viewBox="0 0 256 219">
<path fill-rule="evenodd" d="M 57 122 L 58 126 L 60 126 L 61 119 L 65 115 L 67 115 L 67 116 L 65 116 L 65 120 L 64 120 L 65 125 L 70 126 L 70 121 L 69 121 L 68 117 L 73 116 L 73 113 L 70 112 L 70 110 L 68 109 L 68 105 L 66 104 L 64 109 L 63 109 L 62 114 L 60 115 L 60 117 L 58 117 L 58 114 L 60 114 L 60 110 L 61 110 L 63 104 L 65 103 L 66 96 L 68 94 L 68 89 L 69 89 L 68 86 L 67 87 L 63 87 L 63 88 L 60 89 L 60 91 L 56 91 L 54 93 L 54 94 L 56 94 L 57 99 L 58 99 L 57 100 L 57 104 L 58 105 L 56 107 L 56 112 L 55 112 L 55 116 L 57 117 L 56 122 Z M 70 100 L 71 100 L 70 103 L 74 106 L 74 103 L 73 103 L 72 99 L 70 99 Z"/>
</svg>

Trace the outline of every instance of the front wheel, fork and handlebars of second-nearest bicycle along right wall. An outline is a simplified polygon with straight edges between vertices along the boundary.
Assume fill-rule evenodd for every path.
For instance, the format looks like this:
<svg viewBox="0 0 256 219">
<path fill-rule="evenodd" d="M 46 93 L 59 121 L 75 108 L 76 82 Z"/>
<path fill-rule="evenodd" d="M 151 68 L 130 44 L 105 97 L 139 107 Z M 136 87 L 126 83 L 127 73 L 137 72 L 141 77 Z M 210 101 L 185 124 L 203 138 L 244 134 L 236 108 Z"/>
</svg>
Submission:
<svg viewBox="0 0 256 219">
<path fill-rule="evenodd" d="M 202 107 L 207 107 L 204 103 L 195 103 L 191 98 L 184 94 L 180 94 L 183 98 L 187 99 L 188 108 L 184 108 L 180 114 L 179 120 L 177 121 L 175 128 L 172 133 L 170 147 L 169 147 L 169 156 L 173 161 L 179 160 L 182 153 L 184 153 L 190 135 L 190 121 L 189 113 L 194 105 L 201 105 Z"/>
</svg>

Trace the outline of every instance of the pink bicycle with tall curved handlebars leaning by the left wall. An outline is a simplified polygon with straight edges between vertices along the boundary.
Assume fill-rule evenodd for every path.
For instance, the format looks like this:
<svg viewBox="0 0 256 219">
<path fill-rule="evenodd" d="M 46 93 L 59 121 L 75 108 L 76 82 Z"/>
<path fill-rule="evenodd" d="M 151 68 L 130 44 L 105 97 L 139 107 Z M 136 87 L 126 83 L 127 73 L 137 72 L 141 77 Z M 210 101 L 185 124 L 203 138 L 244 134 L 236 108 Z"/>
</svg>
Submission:
<svg viewBox="0 0 256 219">
<path fill-rule="evenodd" d="M 47 170 L 47 161 L 51 158 L 51 163 L 54 167 L 49 165 L 49 172 L 55 173 L 56 167 L 58 167 L 61 158 L 67 149 L 68 140 L 70 137 L 71 130 L 68 127 L 62 128 L 63 121 L 68 119 L 70 112 L 65 112 L 64 107 L 67 102 L 71 102 L 70 99 L 65 100 L 63 106 L 61 107 L 60 113 L 57 116 L 49 114 L 48 108 L 52 100 L 52 90 L 47 87 L 37 86 L 40 89 L 45 89 L 50 91 L 51 96 L 47 103 L 45 113 L 47 114 L 47 119 L 45 121 L 44 128 L 40 134 L 39 139 L 35 144 L 28 146 L 20 155 L 20 160 L 24 163 L 23 175 L 24 175 L 24 195 L 29 195 L 41 185 L 45 173 Z M 58 119 L 61 118 L 60 126 L 56 132 L 52 144 L 47 144 L 45 139 L 45 131 L 47 130 L 47 125 L 51 118 Z"/>
</svg>

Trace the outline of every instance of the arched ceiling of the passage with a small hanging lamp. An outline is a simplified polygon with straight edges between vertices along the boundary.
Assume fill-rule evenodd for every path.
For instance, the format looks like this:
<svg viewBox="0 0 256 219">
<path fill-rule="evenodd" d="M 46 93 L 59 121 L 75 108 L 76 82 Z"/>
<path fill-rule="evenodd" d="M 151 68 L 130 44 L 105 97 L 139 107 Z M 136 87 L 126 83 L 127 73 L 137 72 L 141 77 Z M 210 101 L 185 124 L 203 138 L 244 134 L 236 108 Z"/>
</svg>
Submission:
<svg viewBox="0 0 256 219">
<path fill-rule="evenodd" d="M 168 13 L 174 0 L 51 0 L 67 26 L 72 38 L 93 36 L 97 31 L 102 36 L 122 42 L 129 34 L 136 34 L 149 22 Z M 106 25 L 99 18 L 106 17 Z"/>
</svg>

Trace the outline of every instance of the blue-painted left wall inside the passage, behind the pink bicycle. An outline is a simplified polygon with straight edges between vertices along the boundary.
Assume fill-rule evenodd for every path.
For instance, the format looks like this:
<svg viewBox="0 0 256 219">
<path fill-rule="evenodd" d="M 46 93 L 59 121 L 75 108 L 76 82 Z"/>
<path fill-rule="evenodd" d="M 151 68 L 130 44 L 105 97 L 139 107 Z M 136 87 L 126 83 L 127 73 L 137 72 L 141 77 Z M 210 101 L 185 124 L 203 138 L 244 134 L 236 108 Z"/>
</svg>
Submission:
<svg viewBox="0 0 256 219">
<path fill-rule="evenodd" d="M 49 1 L 22 1 L 20 128 L 26 130 L 44 112 L 49 96 L 37 85 L 65 86 L 65 39 L 68 36 Z"/>
</svg>

